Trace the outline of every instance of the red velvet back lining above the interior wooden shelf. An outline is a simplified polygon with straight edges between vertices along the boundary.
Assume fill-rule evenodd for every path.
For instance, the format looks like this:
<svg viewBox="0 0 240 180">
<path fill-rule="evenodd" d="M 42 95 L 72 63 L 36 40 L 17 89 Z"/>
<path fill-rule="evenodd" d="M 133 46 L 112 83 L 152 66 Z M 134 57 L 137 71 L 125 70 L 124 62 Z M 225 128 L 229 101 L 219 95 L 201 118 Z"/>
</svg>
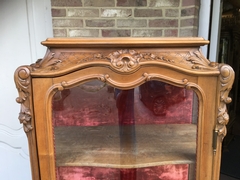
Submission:
<svg viewBox="0 0 240 180">
<path fill-rule="evenodd" d="M 69 91 L 69 90 L 67 90 Z M 62 93 L 66 94 L 66 90 Z M 54 126 L 99 126 L 118 125 L 118 109 L 113 94 L 81 92 L 73 88 L 63 102 L 53 103 Z M 91 101 L 89 96 L 92 97 Z M 189 124 L 192 123 L 193 92 L 186 90 L 186 97 L 168 107 L 163 116 L 153 113 L 134 95 L 134 124 Z M 176 99 L 176 97 L 170 97 Z M 169 99 L 171 101 L 171 99 Z"/>
</svg>

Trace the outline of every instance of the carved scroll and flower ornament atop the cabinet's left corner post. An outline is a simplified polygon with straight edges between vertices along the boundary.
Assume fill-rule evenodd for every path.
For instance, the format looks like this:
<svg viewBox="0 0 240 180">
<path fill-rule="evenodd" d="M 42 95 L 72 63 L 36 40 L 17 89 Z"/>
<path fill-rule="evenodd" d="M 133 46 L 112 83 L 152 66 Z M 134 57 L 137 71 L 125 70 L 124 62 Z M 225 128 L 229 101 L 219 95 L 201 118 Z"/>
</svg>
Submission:
<svg viewBox="0 0 240 180">
<path fill-rule="evenodd" d="M 29 99 L 31 96 L 31 76 L 29 67 L 19 67 L 15 71 L 14 80 L 19 93 L 19 97 L 16 98 L 16 101 L 21 104 L 18 119 L 20 123 L 23 124 L 23 129 L 27 133 L 33 129 L 31 125 L 32 114 Z"/>
</svg>

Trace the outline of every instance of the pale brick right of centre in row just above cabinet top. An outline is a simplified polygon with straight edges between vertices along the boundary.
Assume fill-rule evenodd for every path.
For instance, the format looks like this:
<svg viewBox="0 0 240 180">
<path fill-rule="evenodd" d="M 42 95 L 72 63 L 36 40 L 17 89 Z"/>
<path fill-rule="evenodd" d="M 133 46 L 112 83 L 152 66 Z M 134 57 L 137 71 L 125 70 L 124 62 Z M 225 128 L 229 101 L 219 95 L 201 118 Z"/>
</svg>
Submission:
<svg viewBox="0 0 240 180">
<path fill-rule="evenodd" d="M 161 37 L 161 29 L 134 29 L 133 37 Z"/>
</svg>

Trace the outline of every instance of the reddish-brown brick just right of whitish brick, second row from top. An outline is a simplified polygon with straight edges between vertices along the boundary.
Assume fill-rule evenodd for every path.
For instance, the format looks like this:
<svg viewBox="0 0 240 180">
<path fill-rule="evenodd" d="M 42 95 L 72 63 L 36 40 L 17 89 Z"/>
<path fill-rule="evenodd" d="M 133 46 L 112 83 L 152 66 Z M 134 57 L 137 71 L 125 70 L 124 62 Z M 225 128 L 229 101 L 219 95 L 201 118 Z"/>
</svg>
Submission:
<svg viewBox="0 0 240 180">
<path fill-rule="evenodd" d="M 135 9 L 135 17 L 161 17 L 162 9 Z"/>
</svg>

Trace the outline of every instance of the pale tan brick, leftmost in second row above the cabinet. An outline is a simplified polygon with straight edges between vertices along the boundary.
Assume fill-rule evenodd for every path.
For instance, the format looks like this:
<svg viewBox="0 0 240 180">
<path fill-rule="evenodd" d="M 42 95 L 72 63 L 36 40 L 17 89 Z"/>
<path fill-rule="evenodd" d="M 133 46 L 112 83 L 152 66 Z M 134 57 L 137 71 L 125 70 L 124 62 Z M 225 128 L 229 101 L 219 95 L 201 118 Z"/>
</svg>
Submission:
<svg viewBox="0 0 240 180">
<path fill-rule="evenodd" d="M 53 19 L 53 27 L 82 27 L 81 19 Z"/>
</svg>

